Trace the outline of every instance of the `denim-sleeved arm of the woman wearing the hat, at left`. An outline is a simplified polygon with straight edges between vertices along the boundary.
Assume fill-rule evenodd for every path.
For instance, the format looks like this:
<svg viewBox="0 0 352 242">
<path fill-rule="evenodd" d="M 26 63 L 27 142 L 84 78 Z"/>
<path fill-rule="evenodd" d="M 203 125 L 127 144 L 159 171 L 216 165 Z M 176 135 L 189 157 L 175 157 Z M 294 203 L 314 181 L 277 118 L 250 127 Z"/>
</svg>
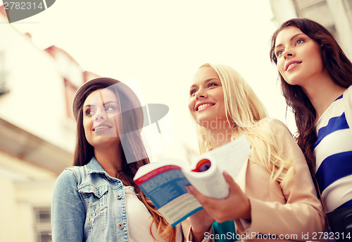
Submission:
<svg viewBox="0 0 352 242">
<path fill-rule="evenodd" d="M 84 202 L 77 189 L 73 171 L 65 169 L 56 180 L 51 204 L 54 242 L 82 242 L 86 218 Z"/>
</svg>

